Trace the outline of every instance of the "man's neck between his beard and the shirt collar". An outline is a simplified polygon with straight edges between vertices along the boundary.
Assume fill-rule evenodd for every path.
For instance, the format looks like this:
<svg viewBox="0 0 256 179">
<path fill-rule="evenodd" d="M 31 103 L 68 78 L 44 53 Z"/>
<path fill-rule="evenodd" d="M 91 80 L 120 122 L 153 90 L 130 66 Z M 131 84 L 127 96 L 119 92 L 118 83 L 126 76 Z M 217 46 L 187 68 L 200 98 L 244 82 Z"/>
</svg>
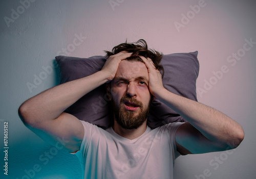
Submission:
<svg viewBox="0 0 256 179">
<path fill-rule="evenodd" d="M 138 127 L 138 129 L 127 130 L 127 129 L 123 129 L 123 127 L 121 127 L 115 120 L 114 125 L 113 125 L 113 130 L 118 135 L 120 135 L 126 139 L 133 140 L 137 137 L 140 137 L 142 134 L 144 134 L 144 132 L 146 131 L 146 127 L 147 126 L 146 126 L 146 121 L 145 121 L 140 127 Z"/>
</svg>

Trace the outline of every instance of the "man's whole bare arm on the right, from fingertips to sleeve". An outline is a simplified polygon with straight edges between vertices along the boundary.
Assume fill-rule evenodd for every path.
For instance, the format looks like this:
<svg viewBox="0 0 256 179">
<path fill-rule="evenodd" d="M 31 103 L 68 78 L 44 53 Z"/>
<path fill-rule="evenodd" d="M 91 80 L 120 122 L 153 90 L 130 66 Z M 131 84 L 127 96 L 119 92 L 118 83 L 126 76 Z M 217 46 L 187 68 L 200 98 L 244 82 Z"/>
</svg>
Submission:
<svg viewBox="0 0 256 179">
<path fill-rule="evenodd" d="M 151 93 L 188 121 L 176 132 L 176 143 L 181 154 L 221 151 L 241 143 L 244 131 L 239 123 L 218 110 L 169 92 L 163 87 L 161 74 L 153 62 L 141 58 L 148 68 Z"/>
</svg>

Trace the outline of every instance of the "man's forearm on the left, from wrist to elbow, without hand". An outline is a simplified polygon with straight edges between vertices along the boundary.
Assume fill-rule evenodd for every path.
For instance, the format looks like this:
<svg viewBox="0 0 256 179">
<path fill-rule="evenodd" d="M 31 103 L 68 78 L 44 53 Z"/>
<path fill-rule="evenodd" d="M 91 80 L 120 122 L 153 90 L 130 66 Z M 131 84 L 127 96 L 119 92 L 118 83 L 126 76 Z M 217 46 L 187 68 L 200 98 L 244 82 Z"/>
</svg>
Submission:
<svg viewBox="0 0 256 179">
<path fill-rule="evenodd" d="M 50 88 L 25 101 L 19 108 L 19 114 L 27 123 L 55 119 L 83 95 L 107 82 L 105 76 L 102 71 L 98 71 Z"/>
</svg>

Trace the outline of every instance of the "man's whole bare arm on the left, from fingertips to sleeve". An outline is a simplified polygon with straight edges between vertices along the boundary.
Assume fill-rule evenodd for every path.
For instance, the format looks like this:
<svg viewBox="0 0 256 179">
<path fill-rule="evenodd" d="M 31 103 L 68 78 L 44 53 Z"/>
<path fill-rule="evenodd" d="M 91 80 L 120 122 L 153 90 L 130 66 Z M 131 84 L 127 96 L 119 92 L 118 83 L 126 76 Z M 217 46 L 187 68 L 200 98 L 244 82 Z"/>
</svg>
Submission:
<svg viewBox="0 0 256 179">
<path fill-rule="evenodd" d="M 61 139 L 65 148 L 77 151 L 83 138 L 83 126 L 74 116 L 64 113 L 79 98 L 112 80 L 121 60 L 131 53 L 111 56 L 101 69 L 90 76 L 50 88 L 25 101 L 18 110 L 20 118 L 34 133 L 51 144 Z"/>
</svg>

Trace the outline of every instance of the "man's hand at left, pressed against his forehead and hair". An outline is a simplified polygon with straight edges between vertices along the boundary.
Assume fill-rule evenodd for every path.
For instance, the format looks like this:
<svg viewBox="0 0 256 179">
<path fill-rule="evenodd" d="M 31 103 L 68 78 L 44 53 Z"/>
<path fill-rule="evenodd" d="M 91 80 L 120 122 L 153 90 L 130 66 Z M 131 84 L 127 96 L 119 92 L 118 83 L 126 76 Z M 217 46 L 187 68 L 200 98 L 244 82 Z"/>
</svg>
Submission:
<svg viewBox="0 0 256 179">
<path fill-rule="evenodd" d="M 126 58 L 131 57 L 133 53 L 127 53 L 125 51 L 119 52 L 118 54 L 110 56 L 104 66 L 102 67 L 101 71 L 104 71 L 106 74 L 106 78 L 108 82 L 114 79 L 116 75 L 117 68 L 120 62 Z"/>
</svg>

